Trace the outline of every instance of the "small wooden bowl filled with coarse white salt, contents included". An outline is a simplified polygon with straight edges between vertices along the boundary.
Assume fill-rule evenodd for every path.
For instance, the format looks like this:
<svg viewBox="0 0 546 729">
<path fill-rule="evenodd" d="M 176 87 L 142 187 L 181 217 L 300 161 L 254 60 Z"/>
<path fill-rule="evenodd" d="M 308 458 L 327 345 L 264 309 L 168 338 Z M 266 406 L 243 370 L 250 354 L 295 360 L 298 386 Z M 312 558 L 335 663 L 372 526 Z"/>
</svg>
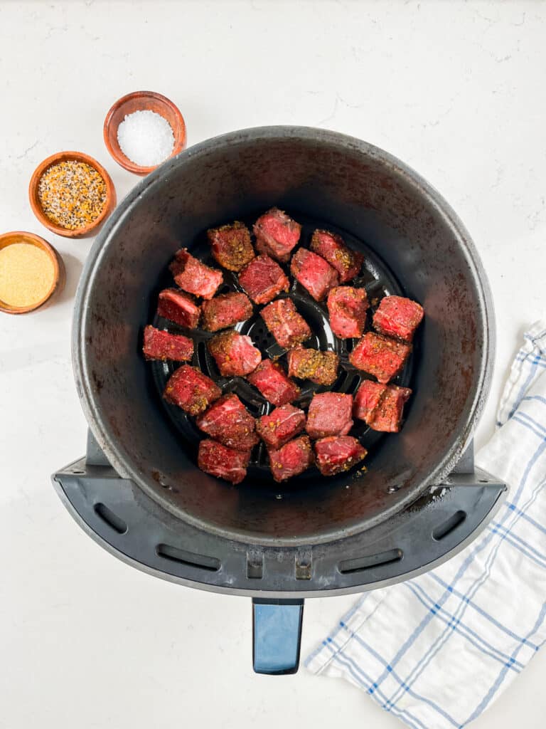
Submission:
<svg viewBox="0 0 546 729">
<path fill-rule="evenodd" d="M 118 99 L 104 120 L 108 152 L 124 169 L 147 175 L 186 147 L 186 123 L 170 99 L 135 91 Z"/>
</svg>

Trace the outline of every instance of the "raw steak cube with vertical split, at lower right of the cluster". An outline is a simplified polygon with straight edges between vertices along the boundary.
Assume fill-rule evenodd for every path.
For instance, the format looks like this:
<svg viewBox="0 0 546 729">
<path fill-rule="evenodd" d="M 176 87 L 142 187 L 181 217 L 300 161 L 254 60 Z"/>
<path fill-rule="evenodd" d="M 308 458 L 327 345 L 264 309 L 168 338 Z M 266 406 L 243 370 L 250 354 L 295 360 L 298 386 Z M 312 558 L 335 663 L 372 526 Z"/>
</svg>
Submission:
<svg viewBox="0 0 546 729">
<path fill-rule="evenodd" d="M 365 421 L 373 430 L 397 433 L 405 402 L 411 395 L 408 387 L 379 385 L 365 380 L 355 397 L 355 417 Z"/>
</svg>

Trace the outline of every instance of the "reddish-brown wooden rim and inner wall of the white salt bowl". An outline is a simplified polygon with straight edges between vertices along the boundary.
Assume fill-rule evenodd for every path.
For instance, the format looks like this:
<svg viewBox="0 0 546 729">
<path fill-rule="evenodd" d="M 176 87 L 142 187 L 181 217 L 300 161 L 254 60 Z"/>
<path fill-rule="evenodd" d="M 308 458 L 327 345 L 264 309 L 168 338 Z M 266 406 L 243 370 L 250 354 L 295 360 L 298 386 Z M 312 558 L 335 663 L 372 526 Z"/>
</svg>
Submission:
<svg viewBox="0 0 546 729">
<path fill-rule="evenodd" d="M 120 111 L 123 106 L 125 106 L 130 101 L 139 101 L 144 100 L 147 98 L 151 98 L 154 101 L 157 101 L 161 106 L 166 107 L 169 109 L 170 113 L 175 116 L 175 118 L 178 120 L 178 123 L 181 127 L 181 133 L 178 135 L 175 135 L 175 146 L 173 147 L 173 152 L 170 153 L 170 155 L 167 157 L 167 160 L 170 160 L 171 157 L 175 157 L 178 155 L 182 150 L 186 147 L 186 141 L 187 141 L 187 133 L 186 133 L 186 122 L 184 121 L 184 117 L 182 116 L 182 112 L 180 109 L 178 109 L 178 106 L 174 104 L 173 101 L 170 100 L 170 98 L 167 98 L 167 96 L 164 96 L 160 93 L 157 93 L 156 91 L 132 91 L 131 93 L 125 94 L 121 98 L 119 98 L 117 101 L 112 104 L 110 109 L 108 109 L 108 113 L 106 114 L 104 125 L 103 125 L 103 137 L 104 137 L 104 144 L 106 144 L 106 149 L 108 149 L 108 152 L 110 152 L 111 157 L 118 163 L 124 170 L 127 170 L 129 172 L 132 172 L 135 175 L 140 175 L 141 177 L 146 176 L 150 174 L 150 172 L 153 172 L 155 169 L 159 167 L 159 165 L 151 165 L 151 167 L 143 167 L 142 165 L 137 165 L 134 162 L 132 162 L 129 157 L 123 154 L 121 148 L 119 147 L 118 141 L 117 141 L 117 128 L 119 127 L 119 124 L 121 122 L 118 122 L 114 126 L 114 114 Z M 146 106 L 143 104 L 142 111 L 146 109 Z M 159 112 L 157 112 L 159 113 Z M 167 119 L 167 117 L 162 114 L 162 116 Z M 169 120 L 167 119 L 167 122 Z M 170 122 L 169 122 L 170 123 Z M 173 128 L 173 125 L 170 124 L 170 127 Z M 175 130 L 173 129 L 173 134 L 175 134 Z M 165 162 L 165 160 L 163 160 Z M 162 164 L 162 163 L 159 163 Z"/>
</svg>

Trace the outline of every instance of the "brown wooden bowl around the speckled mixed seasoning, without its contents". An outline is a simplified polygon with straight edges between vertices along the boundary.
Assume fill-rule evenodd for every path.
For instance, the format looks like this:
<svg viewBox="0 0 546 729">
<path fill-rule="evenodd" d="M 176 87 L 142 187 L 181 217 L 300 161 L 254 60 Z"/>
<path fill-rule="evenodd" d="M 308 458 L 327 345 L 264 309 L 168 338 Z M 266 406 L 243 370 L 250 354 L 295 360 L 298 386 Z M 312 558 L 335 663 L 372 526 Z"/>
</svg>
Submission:
<svg viewBox="0 0 546 729">
<path fill-rule="evenodd" d="M 84 225 L 84 227 L 76 228 L 76 230 L 68 230 L 68 228 L 63 228 L 61 225 L 56 225 L 54 222 L 52 222 L 52 220 L 50 220 L 42 210 L 38 197 L 38 184 L 40 182 L 41 176 L 51 165 L 55 165 L 59 162 L 68 162 L 74 160 L 76 162 L 87 163 L 88 165 L 90 165 L 90 167 L 95 168 L 100 176 L 102 176 L 104 182 L 106 183 L 106 201 L 104 203 L 102 213 L 100 213 L 100 215 L 95 218 L 93 222 L 91 222 L 89 225 Z M 97 160 L 94 160 L 89 155 L 84 155 L 83 152 L 57 152 L 56 155 L 51 155 L 51 157 L 47 157 L 47 160 L 44 160 L 42 163 L 40 163 L 33 172 L 31 182 L 28 185 L 28 198 L 31 201 L 32 211 L 41 222 L 41 225 L 47 227 L 47 230 L 51 230 L 52 233 L 57 233 L 57 235 L 64 235 L 65 238 L 84 238 L 85 235 L 94 235 L 100 225 L 103 224 L 108 215 L 111 214 L 111 211 L 113 211 L 116 207 L 116 189 L 114 187 L 114 182 L 112 182 L 111 180 L 111 176 L 103 168 L 103 165 L 100 165 Z"/>
</svg>

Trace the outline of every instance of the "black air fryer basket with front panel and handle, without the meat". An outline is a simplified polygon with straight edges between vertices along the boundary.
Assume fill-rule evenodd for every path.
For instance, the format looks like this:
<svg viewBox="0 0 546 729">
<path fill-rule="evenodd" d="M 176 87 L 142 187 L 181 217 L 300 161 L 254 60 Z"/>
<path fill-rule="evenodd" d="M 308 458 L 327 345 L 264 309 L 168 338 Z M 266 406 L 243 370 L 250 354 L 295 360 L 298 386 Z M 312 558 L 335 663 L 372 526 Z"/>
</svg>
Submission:
<svg viewBox="0 0 546 729">
<path fill-rule="evenodd" d="M 144 361 L 142 330 L 167 265 L 187 246 L 208 255 L 205 231 L 252 222 L 278 206 L 341 233 L 365 255 L 368 298 L 400 294 L 426 316 L 397 380 L 414 390 L 399 434 L 357 437 L 368 471 L 274 483 L 256 448 L 232 487 L 197 469 L 199 434 L 161 394 L 173 364 Z M 238 290 L 225 276 L 224 289 Z M 341 358 L 333 390 L 354 394 L 351 343 L 333 336 L 325 307 L 288 292 L 313 330 L 309 346 Z M 175 331 L 172 323 L 157 319 Z M 258 313 L 237 325 L 262 354 L 282 351 Z M 199 335 L 201 336 L 201 335 Z M 268 412 L 241 378 L 221 378 L 198 338 L 194 364 L 254 416 Z M 254 666 L 298 665 L 303 599 L 361 592 L 430 569 L 475 537 L 505 487 L 475 469 L 472 429 L 488 391 L 493 311 L 472 241 L 447 203 L 386 152 L 310 128 L 256 128 L 188 149 L 143 179 L 109 219 L 79 285 L 76 384 L 90 426 L 87 456 L 54 476 L 63 502 L 103 547 L 183 585 L 254 599 Z M 306 405 L 317 386 L 302 389 Z"/>
</svg>

